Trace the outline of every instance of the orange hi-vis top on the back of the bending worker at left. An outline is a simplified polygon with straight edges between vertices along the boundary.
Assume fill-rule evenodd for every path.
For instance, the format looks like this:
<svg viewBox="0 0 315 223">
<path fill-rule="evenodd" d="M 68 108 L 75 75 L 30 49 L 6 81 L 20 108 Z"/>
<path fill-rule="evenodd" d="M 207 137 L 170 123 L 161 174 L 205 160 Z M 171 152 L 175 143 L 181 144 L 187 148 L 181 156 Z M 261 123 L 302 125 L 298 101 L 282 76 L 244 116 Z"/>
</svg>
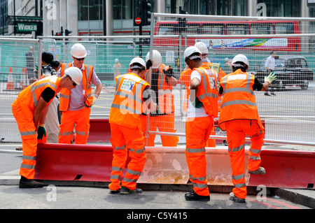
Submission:
<svg viewBox="0 0 315 223">
<path fill-rule="evenodd" d="M 58 78 L 56 75 L 48 76 L 34 82 L 20 92 L 16 101 L 25 114 L 25 117 L 29 118 L 29 120 L 33 120 L 34 110 L 44 89 L 50 87 L 55 92 L 56 96 L 59 92 L 60 80 L 61 78 Z M 54 97 L 52 97 L 52 99 Z M 47 105 L 52 101 L 52 99 L 48 101 Z"/>
</svg>

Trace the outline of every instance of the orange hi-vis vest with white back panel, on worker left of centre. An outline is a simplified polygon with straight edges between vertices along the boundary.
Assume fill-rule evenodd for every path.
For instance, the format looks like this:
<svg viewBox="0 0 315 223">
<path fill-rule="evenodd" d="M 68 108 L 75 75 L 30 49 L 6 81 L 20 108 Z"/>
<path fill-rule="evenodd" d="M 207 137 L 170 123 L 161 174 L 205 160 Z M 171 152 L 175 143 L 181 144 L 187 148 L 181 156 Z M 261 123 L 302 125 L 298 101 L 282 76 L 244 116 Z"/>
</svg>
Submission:
<svg viewBox="0 0 315 223">
<path fill-rule="evenodd" d="M 140 115 L 146 110 L 143 108 L 142 94 L 147 86 L 150 86 L 148 82 L 137 74 L 118 75 L 115 96 L 109 113 L 109 123 L 137 129 L 141 125 Z"/>
</svg>

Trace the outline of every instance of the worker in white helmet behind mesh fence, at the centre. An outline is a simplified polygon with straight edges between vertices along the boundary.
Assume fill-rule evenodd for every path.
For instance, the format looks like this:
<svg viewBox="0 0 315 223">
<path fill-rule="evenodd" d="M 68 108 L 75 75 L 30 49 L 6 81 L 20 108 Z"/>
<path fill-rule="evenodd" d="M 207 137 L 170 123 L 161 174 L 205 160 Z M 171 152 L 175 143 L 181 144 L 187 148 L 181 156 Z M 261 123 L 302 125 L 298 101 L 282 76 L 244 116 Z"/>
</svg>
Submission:
<svg viewBox="0 0 315 223">
<path fill-rule="evenodd" d="M 177 80 L 174 78 L 173 69 L 171 66 L 162 64 L 162 56 L 158 50 L 153 50 L 152 61 L 150 52 L 146 55 L 146 64 L 152 66 L 151 89 L 153 101 L 158 103 L 158 110 L 150 113 L 150 131 L 159 131 L 175 133 L 175 115 L 174 115 L 174 95 L 172 88 L 176 86 Z M 148 81 L 149 72 L 146 73 L 146 81 Z M 146 132 L 146 114 L 141 115 L 142 131 Z M 148 146 L 154 146 L 155 134 L 148 135 Z M 179 136 L 164 136 L 161 135 L 162 146 L 176 147 L 179 142 Z"/>
</svg>

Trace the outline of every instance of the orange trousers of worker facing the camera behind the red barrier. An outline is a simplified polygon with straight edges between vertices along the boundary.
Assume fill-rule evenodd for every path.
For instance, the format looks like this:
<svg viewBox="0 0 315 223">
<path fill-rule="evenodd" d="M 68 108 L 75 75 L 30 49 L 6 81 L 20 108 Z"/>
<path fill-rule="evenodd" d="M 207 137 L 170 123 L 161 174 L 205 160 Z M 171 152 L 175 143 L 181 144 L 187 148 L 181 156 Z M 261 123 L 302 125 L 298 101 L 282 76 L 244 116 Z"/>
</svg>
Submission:
<svg viewBox="0 0 315 223">
<path fill-rule="evenodd" d="M 90 131 L 91 108 L 81 110 L 67 110 L 62 112 L 58 143 L 71 144 L 73 129 L 76 125 L 75 144 L 86 144 Z"/>
</svg>

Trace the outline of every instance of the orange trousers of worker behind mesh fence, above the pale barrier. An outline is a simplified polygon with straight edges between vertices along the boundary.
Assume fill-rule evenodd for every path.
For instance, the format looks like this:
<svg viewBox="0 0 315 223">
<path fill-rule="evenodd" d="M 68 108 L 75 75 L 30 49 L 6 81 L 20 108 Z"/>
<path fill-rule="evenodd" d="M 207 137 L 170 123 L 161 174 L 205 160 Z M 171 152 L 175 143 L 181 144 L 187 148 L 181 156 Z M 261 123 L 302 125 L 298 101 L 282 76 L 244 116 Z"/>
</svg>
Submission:
<svg viewBox="0 0 315 223">
<path fill-rule="evenodd" d="M 141 120 L 141 130 L 144 134 L 146 132 L 146 115 L 140 116 Z M 150 116 L 149 129 L 150 131 L 159 131 L 162 132 L 172 132 L 175 133 L 176 129 L 174 124 L 175 116 L 174 113 L 167 115 L 159 115 L 159 116 Z M 176 147 L 179 142 L 179 136 L 163 136 L 161 135 L 162 146 L 170 146 Z M 148 135 L 148 145 L 154 146 L 155 143 L 155 135 Z"/>
</svg>

